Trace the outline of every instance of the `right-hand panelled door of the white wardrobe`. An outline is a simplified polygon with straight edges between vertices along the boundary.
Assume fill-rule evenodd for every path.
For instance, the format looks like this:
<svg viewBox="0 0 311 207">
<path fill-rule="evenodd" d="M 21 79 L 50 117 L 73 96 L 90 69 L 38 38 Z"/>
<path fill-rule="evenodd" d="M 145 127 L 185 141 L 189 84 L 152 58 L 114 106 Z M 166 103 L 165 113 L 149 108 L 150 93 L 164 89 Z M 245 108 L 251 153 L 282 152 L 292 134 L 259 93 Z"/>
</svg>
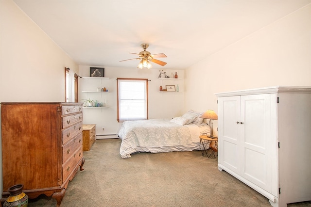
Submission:
<svg viewBox="0 0 311 207">
<path fill-rule="evenodd" d="M 241 96 L 241 175 L 272 192 L 276 174 L 276 94 Z M 276 176 L 274 176 L 275 178 Z"/>
</svg>

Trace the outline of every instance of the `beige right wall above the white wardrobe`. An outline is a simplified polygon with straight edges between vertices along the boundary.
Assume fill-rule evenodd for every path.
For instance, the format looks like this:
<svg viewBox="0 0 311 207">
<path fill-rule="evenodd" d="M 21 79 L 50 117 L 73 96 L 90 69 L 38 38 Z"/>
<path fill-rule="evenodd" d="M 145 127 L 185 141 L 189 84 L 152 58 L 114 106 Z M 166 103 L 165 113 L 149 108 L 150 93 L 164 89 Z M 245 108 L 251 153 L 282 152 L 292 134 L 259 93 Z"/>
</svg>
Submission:
<svg viewBox="0 0 311 207">
<path fill-rule="evenodd" d="M 188 68 L 185 110 L 217 113 L 215 93 L 276 85 L 311 86 L 311 4 Z"/>
</svg>

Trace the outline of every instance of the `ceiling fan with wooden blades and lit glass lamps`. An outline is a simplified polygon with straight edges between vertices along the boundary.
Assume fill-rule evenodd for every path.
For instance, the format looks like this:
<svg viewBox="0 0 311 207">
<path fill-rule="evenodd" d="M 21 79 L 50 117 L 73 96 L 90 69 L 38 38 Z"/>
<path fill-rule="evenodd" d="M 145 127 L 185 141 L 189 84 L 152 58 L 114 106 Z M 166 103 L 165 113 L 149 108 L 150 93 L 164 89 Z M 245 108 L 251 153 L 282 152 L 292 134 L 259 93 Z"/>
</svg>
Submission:
<svg viewBox="0 0 311 207">
<path fill-rule="evenodd" d="M 147 67 L 148 69 L 152 68 L 152 64 L 150 64 L 150 62 L 159 64 L 161 66 L 166 65 L 165 62 L 154 59 L 154 58 L 166 58 L 167 56 L 165 54 L 158 53 L 158 54 L 151 55 L 150 52 L 146 51 L 146 49 L 149 47 L 149 45 L 147 43 L 143 43 L 140 46 L 141 46 L 141 48 L 144 49 L 144 51 L 139 52 L 139 54 L 130 52 L 130 54 L 139 55 L 139 58 L 132 58 L 132 59 L 127 59 L 127 60 L 123 60 L 123 61 L 140 60 L 138 66 L 137 66 L 140 69 L 142 69 L 143 67 Z M 122 62 L 122 61 L 120 61 L 120 62 Z"/>
</svg>

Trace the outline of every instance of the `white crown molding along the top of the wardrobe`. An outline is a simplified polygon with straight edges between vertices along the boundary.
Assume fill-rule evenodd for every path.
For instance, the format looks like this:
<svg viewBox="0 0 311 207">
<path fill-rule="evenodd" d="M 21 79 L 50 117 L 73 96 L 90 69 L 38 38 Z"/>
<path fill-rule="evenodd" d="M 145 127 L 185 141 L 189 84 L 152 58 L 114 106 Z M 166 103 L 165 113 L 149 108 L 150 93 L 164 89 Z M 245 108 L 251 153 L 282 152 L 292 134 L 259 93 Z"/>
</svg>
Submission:
<svg viewBox="0 0 311 207">
<path fill-rule="evenodd" d="M 275 94 L 275 93 L 306 93 L 311 94 L 310 86 L 272 86 L 265 88 L 255 88 L 240 91 L 231 91 L 225 93 L 216 93 L 217 97 L 224 96 L 241 96 L 254 94 Z"/>
</svg>

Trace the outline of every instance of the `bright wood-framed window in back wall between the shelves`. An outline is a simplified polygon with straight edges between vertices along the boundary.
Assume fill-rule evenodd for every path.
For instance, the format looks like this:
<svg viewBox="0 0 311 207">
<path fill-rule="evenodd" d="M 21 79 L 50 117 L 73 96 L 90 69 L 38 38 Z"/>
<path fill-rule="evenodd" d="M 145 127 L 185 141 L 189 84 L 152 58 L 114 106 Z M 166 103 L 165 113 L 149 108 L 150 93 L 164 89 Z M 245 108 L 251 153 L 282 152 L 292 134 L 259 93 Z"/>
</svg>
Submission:
<svg viewBox="0 0 311 207">
<path fill-rule="evenodd" d="M 118 122 L 148 119 L 148 79 L 117 79 Z"/>
</svg>

